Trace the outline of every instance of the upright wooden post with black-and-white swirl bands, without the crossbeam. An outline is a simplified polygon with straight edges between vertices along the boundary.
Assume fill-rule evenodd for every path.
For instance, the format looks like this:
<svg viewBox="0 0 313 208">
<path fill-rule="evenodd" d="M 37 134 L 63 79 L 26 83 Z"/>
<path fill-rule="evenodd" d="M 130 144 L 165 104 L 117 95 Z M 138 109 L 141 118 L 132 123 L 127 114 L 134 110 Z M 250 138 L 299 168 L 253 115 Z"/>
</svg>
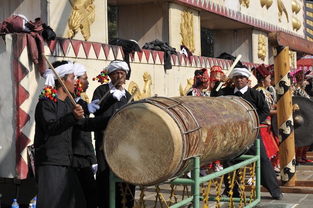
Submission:
<svg viewBox="0 0 313 208">
<path fill-rule="evenodd" d="M 275 47 L 273 54 L 277 92 L 281 185 L 295 186 L 295 137 L 292 117 L 289 47 Z"/>
</svg>

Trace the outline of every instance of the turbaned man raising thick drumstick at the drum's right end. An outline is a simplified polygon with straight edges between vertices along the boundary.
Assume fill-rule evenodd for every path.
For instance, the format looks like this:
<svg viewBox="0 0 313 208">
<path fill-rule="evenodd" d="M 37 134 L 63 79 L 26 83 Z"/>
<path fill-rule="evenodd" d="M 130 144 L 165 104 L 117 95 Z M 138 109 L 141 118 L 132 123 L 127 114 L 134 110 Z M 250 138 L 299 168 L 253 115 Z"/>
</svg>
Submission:
<svg viewBox="0 0 313 208">
<path fill-rule="evenodd" d="M 235 66 L 235 68 L 229 74 L 229 78 L 233 79 L 235 88 L 225 87 L 223 89 L 220 89 L 217 92 L 216 88 L 218 85 L 215 85 L 211 92 L 211 96 L 218 97 L 218 96 L 234 95 L 234 96 L 242 97 L 245 100 L 247 100 L 251 105 L 253 105 L 253 107 L 257 110 L 257 113 L 259 115 L 259 120 L 264 121 L 266 117 L 269 115 L 269 107 L 266 104 L 264 97 L 261 95 L 259 91 L 256 91 L 247 86 L 247 81 L 250 76 L 251 76 L 251 73 L 249 72 L 246 66 L 244 65 Z M 226 75 L 223 75 L 221 77 L 221 82 L 225 82 L 227 78 L 228 77 Z M 272 163 L 267 157 L 264 143 L 262 141 L 262 137 L 260 136 L 260 133 L 258 134 L 257 139 L 260 140 L 260 151 L 261 151 L 260 153 L 261 185 L 269 191 L 269 193 L 272 195 L 272 197 L 275 200 L 282 200 L 283 195 L 281 193 L 280 187 L 278 186 L 278 181 L 277 181 Z M 254 145 L 248 150 L 247 154 L 255 155 Z M 229 164 L 232 165 L 234 164 L 234 162 L 235 162 L 234 160 L 230 160 L 228 161 L 228 164 L 223 164 L 223 167 L 224 168 L 229 167 Z M 227 177 L 228 175 L 224 176 L 225 179 L 227 179 Z M 227 180 L 224 180 L 224 183 L 225 183 L 226 189 L 224 190 L 223 194 L 227 196 L 228 192 L 230 191 L 230 189 L 228 188 L 229 184 Z M 237 183 L 234 185 L 233 197 L 239 197 Z"/>
</svg>

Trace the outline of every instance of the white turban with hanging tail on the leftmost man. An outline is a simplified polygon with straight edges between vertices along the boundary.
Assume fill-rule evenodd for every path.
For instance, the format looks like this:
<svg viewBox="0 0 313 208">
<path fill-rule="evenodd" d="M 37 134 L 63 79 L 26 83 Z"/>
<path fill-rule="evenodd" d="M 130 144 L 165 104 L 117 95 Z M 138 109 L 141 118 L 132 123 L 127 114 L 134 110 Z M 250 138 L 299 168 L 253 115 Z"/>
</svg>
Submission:
<svg viewBox="0 0 313 208">
<path fill-rule="evenodd" d="M 68 60 L 67 64 L 60 65 L 56 67 L 54 70 L 59 75 L 59 77 L 62 78 L 65 75 L 72 74 L 74 72 L 74 65 L 70 60 Z M 44 73 L 44 79 L 46 79 L 44 85 L 54 86 L 54 80 L 56 80 L 57 77 L 53 73 L 52 69 L 47 69 L 46 72 Z"/>
</svg>

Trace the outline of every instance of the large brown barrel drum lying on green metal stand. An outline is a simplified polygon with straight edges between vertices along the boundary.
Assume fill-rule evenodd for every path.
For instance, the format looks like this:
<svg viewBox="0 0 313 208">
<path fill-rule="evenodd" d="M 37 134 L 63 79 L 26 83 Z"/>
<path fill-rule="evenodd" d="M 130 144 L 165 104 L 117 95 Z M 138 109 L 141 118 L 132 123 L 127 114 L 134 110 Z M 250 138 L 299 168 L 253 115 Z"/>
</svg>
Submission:
<svg viewBox="0 0 313 208">
<path fill-rule="evenodd" d="M 152 97 L 115 112 L 105 130 L 104 153 L 119 178 L 156 185 L 175 179 L 192 157 L 205 165 L 244 153 L 258 127 L 256 110 L 236 96 Z"/>
</svg>

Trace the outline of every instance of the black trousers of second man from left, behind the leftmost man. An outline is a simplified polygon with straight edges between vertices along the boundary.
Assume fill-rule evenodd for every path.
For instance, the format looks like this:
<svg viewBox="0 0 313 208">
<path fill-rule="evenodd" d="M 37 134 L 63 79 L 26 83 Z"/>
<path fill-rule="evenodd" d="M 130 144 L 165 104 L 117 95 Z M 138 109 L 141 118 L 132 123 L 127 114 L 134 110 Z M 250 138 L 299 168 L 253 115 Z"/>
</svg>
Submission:
<svg viewBox="0 0 313 208">
<path fill-rule="evenodd" d="M 88 156 L 75 155 L 74 170 L 84 192 L 87 208 L 97 208 L 98 206 L 98 186 L 92 172 Z"/>
</svg>

